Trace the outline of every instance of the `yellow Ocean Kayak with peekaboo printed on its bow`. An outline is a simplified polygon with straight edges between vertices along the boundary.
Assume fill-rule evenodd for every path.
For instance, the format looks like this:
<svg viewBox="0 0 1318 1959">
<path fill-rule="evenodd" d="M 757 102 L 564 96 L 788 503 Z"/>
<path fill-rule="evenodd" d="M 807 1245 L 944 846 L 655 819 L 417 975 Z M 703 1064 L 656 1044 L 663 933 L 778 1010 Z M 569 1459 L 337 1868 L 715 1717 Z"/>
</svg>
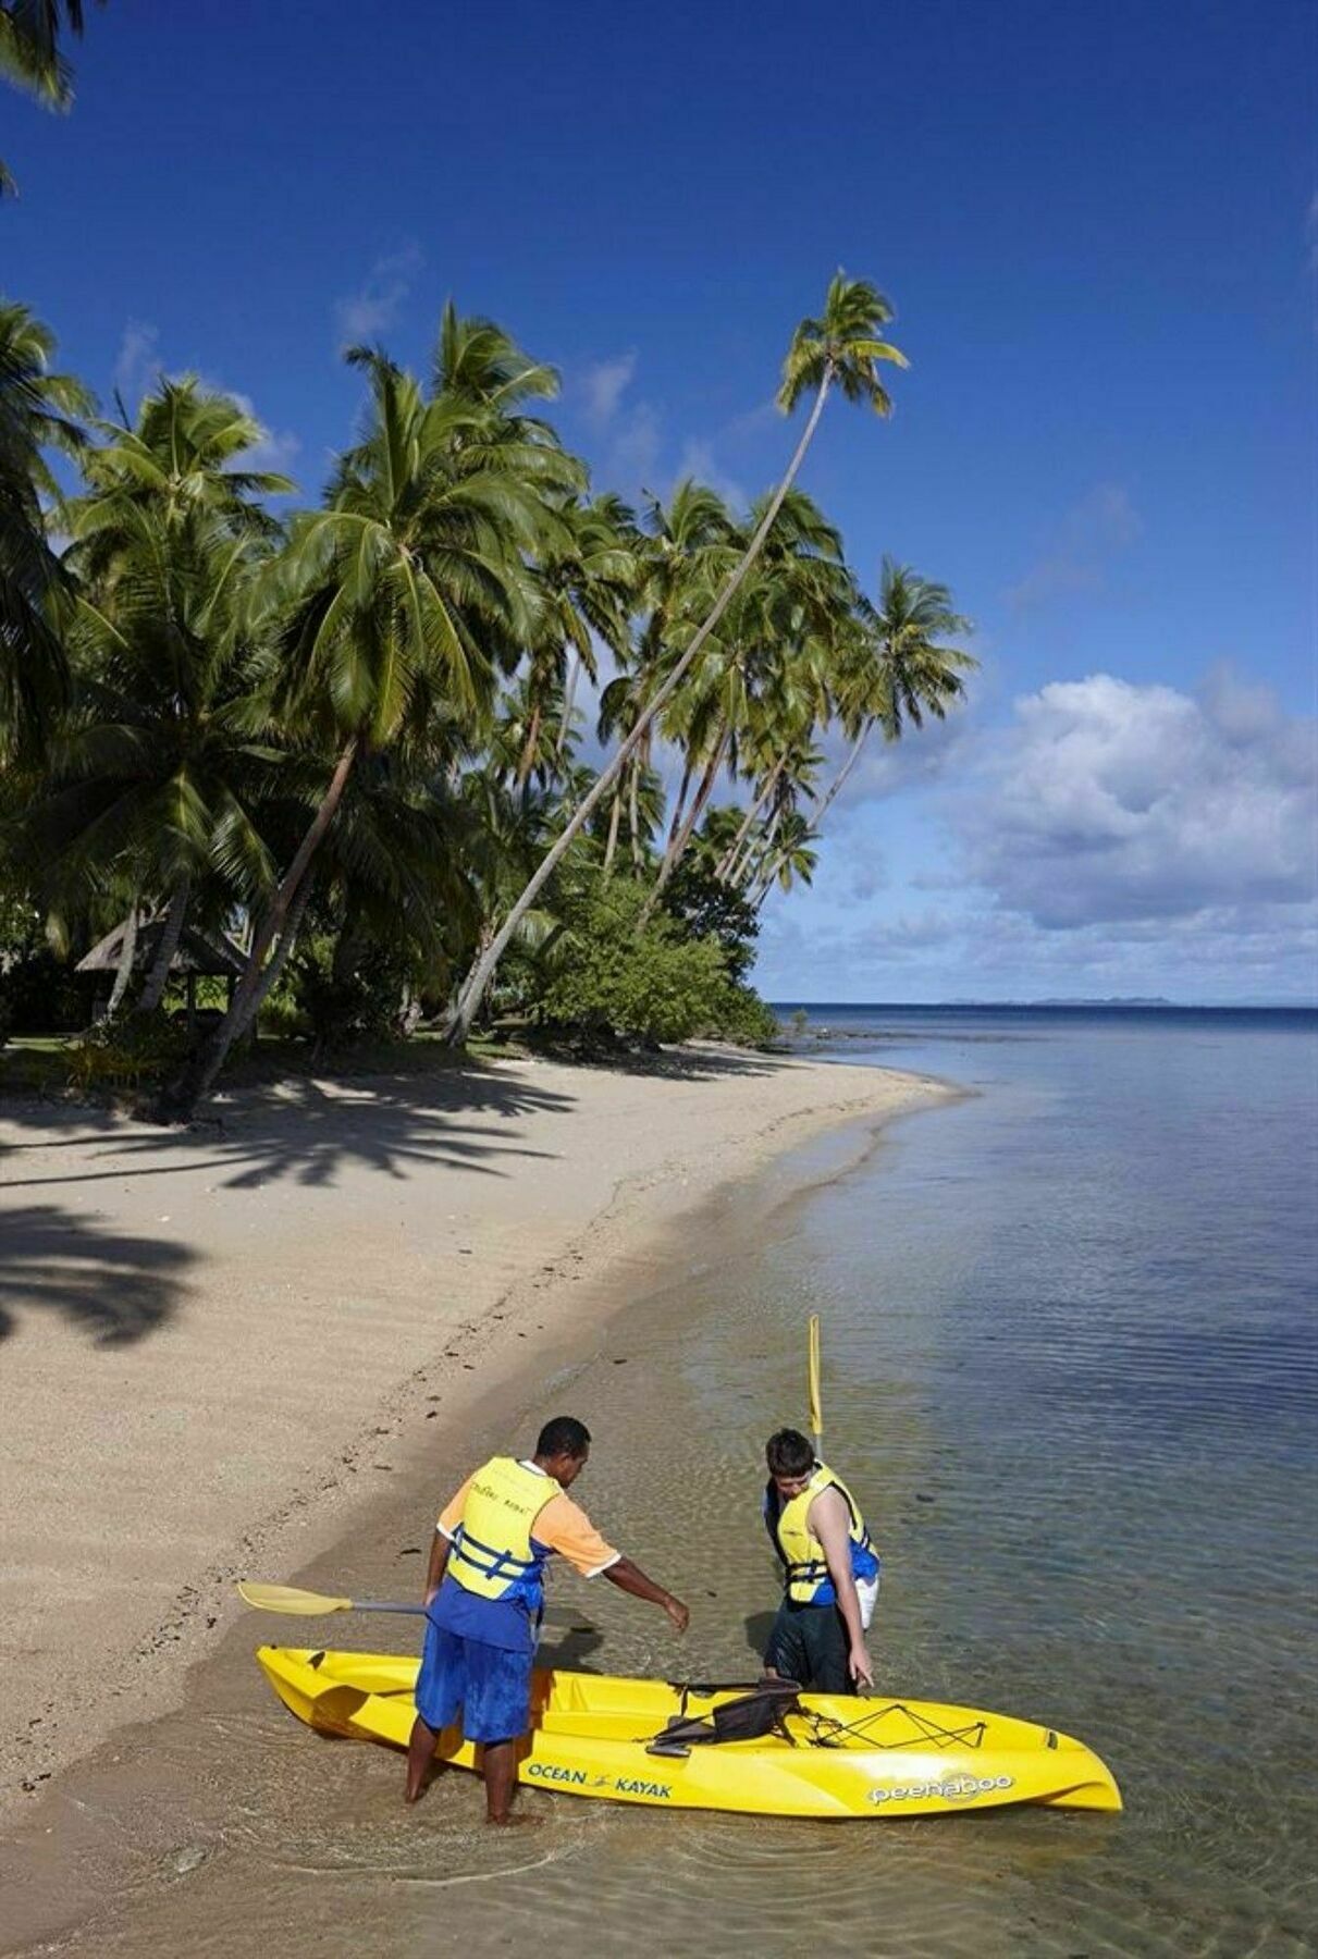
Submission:
<svg viewBox="0 0 1318 1959">
<path fill-rule="evenodd" d="M 405 1747 L 417 1659 L 262 1646 L 280 1700 L 323 1734 Z M 537 1671 L 517 1777 L 529 1789 L 666 1810 L 748 1816 L 950 1816 L 1042 1802 L 1120 1810 L 1099 1757 L 1054 1728 L 936 1700 L 801 1695 L 754 1740 L 717 1740 L 715 1716 L 746 1687 L 670 1687 L 597 1673 Z M 719 1722 L 727 1726 L 729 1720 Z M 474 1769 L 447 1728 L 437 1757 Z"/>
</svg>

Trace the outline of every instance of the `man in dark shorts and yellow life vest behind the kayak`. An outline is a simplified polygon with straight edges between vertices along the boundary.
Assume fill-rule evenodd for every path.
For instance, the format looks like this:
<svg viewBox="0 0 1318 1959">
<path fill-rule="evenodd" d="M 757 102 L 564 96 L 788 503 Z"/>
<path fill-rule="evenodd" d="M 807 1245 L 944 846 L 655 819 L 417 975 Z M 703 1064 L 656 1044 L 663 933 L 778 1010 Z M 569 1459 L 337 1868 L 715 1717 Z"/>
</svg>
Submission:
<svg viewBox="0 0 1318 1959">
<path fill-rule="evenodd" d="M 873 1687 L 866 1628 L 879 1591 L 879 1555 L 860 1506 L 795 1428 L 770 1436 L 764 1456 L 764 1522 L 783 1567 L 766 1673 L 821 1695 Z"/>
</svg>

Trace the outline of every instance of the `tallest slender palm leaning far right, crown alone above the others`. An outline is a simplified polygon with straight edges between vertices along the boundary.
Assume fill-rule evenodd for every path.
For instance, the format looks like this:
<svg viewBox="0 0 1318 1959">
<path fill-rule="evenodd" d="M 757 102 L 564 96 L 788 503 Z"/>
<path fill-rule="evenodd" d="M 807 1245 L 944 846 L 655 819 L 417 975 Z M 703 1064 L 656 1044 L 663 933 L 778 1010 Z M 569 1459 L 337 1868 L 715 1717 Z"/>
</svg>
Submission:
<svg viewBox="0 0 1318 1959">
<path fill-rule="evenodd" d="M 650 723 L 658 713 L 662 713 L 668 699 L 678 692 L 687 672 L 695 666 L 705 641 L 719 625 L 719 619 L 732 603 L 738 586 L 760 556 L 764 541 L 774 529 L 774 519 L 777 517 L 781 502 L 805 462 L 805 454 L 811 447 L 815 429 L 819 427 L 819 417 L 824 411 L 824 402 L 828 400 L 832 388 L 840 388 L 848 402 L 862 402 L 879 415 L 891 413 L 891 400 L 879 380 L 879 368 L 883 362 L 893 362 L 897 366 L 907 364 L 905 355 L 901 355 L 889 341 L 881 339 L 881 327 L 891 317 L 893 310 L 875 286 L 866 280 L 848 280 L 842 272 L 838 272 L 828 286 L 824 310 L 819 319 L 803 319 L 797 327 L 791 347 L 787 349 L 777 406 L 783 413 L 791 413 L 807 398 L 807 394 L 811 394 L 811 390 L 813 402 L 791 462 L 787 464 L 777 490 L 768 500 L 750 543 L 729 574 L 723 592 L 709 609 L 703 625 L 691 635 L 685 652 L 668 674 L 668 680 L 654 693 L 648 709 L 638 717 L 631 735 L 625 737 L 611 762 L 601 770 L 588 795 L 578 803 L 552 850 L 544 854 L 544 860 L 537 868 L 535 876 L 527 882 L 527 887 L 517 905 L 513 905 L 503 929 L 495 934 L 494 942 L 472 972 L 468 985 L 462 989 L 462 1001 L 452 1021 L 450 1040 L 454 1044 L 466 1038 L 472 1017 L 495 974 L 503 948 L 517 931 L 523 911 L 531 909 L 541 885 L 552 878 L 556 864 L 566 856 L 574 838 L 589 823 L 595 803 L 603 801 L 603 797 L 613 789 L 613 784 L 627 768 L 633 752 L 644 741 Z"/>
</svg>

